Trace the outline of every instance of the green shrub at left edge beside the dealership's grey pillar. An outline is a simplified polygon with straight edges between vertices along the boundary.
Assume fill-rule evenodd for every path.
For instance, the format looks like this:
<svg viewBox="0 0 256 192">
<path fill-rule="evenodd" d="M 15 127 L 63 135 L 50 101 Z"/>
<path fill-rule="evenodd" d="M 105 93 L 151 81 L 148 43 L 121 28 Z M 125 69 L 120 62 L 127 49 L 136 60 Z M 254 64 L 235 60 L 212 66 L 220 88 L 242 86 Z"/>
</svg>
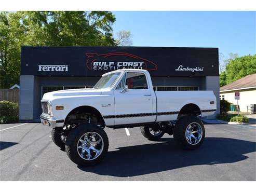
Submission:
<svg viewBox="0 0 256 192">
<path fill-rule="evenodd" d="M 0 101 L 0 124 L 17 122 L 19 119 L 19 105 L 15 102 Z"/>
</svg>

